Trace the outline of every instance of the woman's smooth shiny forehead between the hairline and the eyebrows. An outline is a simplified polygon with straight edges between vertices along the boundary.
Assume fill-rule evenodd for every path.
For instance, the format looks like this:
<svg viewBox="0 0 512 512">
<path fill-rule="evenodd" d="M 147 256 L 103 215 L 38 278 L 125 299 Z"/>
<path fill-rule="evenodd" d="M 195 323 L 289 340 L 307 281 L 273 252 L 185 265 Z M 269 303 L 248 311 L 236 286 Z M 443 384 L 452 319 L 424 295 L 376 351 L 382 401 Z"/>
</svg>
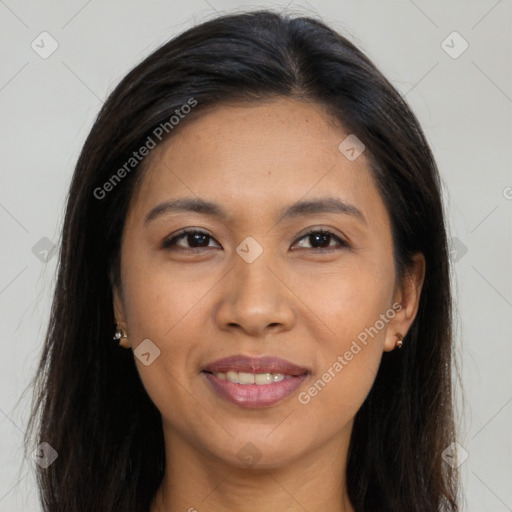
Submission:
<svg viewBox="0 0 512 512">
<path fill-rule="evenodd" d="M 365 154 L 350 161 L 339 150 L 348 135 L 316 103 L 218 105 L 183 119 L 153 150 L 133 206 L 141 213 L 192 195 L 254 216 L 299 199 L 335 195 L 358 203 L 370 217 L 385 214 Z"/>
</svg>

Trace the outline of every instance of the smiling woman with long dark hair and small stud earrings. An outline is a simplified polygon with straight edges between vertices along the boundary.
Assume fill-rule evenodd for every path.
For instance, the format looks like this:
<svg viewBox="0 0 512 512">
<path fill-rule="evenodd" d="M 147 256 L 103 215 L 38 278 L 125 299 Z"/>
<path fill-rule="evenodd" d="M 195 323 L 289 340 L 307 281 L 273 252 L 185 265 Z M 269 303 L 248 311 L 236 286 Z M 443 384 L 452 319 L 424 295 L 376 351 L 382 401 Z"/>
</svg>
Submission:
<svg viewBox="0 0 512 512">
<path fill-rule="evenodd" d="M 317 20 L 147 57 L 70 188 L 44 510 L 458 510 L 440 195 L 404 100 Z"/>
</svg>

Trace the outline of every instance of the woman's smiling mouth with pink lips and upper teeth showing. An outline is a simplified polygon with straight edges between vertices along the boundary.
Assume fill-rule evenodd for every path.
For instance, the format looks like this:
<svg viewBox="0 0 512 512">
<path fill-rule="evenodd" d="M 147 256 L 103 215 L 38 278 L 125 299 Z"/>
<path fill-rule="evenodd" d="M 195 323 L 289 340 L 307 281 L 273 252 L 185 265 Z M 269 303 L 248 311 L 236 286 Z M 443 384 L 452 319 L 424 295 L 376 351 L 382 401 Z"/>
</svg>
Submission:
<svg viewBox="0 0 512 512">
<path fill-rule="evenodd" d="M 276 357 L 233 356 L 209 364 L 201 374 L 221 398 L 240 407 L 260 408 L 288 398 L 310 371 Z"/>
</svg>

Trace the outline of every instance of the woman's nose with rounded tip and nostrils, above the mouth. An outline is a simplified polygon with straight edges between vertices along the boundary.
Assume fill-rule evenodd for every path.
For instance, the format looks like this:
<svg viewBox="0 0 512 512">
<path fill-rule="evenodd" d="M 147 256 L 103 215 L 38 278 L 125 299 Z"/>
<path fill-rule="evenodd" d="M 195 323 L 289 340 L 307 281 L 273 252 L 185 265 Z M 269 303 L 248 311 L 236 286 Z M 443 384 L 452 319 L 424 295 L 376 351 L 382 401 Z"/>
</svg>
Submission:
<svg viewBox="0 0 512 512">
<path fill-rule="evenodd" d="M 215 308 L 220 329 L 261 337 L 266 331 L 278 333 L 292 328 L 296 318 L 294 295 L 285 276 L 264 254 L 252 263 L 236 256 L 234 268 L 222 280 Z"/>
</svg>

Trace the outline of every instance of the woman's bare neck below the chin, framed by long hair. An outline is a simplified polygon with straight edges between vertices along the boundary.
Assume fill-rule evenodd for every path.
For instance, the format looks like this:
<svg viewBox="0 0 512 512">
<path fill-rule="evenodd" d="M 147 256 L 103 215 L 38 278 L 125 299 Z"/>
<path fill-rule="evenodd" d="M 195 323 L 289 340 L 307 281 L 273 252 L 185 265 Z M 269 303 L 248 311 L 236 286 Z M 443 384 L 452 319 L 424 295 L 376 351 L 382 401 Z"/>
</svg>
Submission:
<svg viewBox="0 0 512 512">
<path fill-rule="evenodd" d="M 269 468 L 234 467 L 166 435 L 166 471 L 150 512 L 354 512 L 345 485 L 350 430 L 288 465 Z"/>
</svg>

